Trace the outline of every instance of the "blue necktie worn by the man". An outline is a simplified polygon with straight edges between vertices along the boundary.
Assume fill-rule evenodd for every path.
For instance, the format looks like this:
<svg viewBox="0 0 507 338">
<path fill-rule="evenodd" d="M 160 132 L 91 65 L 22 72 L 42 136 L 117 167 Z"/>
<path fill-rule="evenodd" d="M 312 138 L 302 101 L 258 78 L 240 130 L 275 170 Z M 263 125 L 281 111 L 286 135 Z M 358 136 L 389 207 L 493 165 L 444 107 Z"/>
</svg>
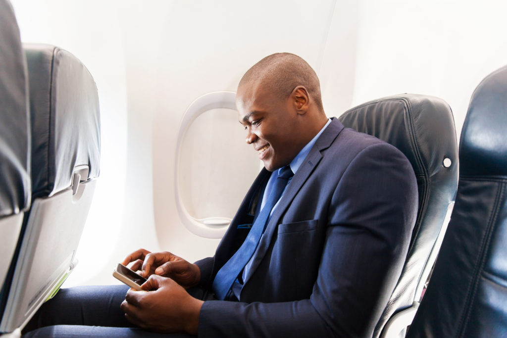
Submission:
<svg viewBox="0 0 507 338">
<path fill-rule="evenodd" d="M 241 247 L 226 262 L 226 264 L 224 264 L 213 280 L 212 289 L 218 299 L 223 300 L 226 298 L 232 284 L 252 257 L 266 227 L 271 209 L 273 209 L 276 202 L 280 199 L 283 189 L 285 188 L 285 185 L 287 185 L 288 179 L 293 175 L 294 173 L 288 165 L 278 171 L 278 177 L 276 178 L 273 189 L 268 196 L 268 200 L 264 205 L 264 208 L 262 208 L 256 221 L 253 223 L 248 236 L 246 236 L 246 239 Z"/>
</svg>

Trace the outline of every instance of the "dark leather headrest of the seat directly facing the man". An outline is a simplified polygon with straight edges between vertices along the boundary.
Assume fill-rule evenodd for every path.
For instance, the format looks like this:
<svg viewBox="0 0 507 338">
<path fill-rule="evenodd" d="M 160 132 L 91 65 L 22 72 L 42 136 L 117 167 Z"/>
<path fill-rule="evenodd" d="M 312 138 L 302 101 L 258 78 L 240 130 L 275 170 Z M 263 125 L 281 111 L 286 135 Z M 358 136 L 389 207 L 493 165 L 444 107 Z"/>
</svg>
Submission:
<svg viewBox="0 0 507 338">
<path fill-rule="evenodd" d="M 78 166 L 88 166 L 88 179 L 99 174 L 97 87 L 88 69 L 67 51 L 49 45 L 23 48 L 30 86 L 32 193 L 51 196 L 71 186 Z"/>
</svg>

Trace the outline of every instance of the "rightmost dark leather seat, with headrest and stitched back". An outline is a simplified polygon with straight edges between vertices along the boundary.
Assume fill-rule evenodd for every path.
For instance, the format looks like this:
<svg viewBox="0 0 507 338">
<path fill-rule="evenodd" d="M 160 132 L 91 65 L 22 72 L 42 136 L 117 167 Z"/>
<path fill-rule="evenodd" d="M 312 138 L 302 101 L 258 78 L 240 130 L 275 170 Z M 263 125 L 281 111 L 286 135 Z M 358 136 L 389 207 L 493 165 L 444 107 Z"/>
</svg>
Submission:
<svg viewBox="0 0 507 338">
<path fill-rule="evenodd" d="M 476 88 L 456 204 L 411 337 L 507 336 L 507 66 Z"/>
</svg>

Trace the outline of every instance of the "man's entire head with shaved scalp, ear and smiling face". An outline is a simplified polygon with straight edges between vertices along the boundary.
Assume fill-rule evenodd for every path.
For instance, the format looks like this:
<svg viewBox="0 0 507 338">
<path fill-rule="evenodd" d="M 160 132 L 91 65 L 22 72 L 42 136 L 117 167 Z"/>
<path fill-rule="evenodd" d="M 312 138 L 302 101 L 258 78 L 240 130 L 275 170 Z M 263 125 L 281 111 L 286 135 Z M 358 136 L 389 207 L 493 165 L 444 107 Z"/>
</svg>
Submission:
<svg viewBox="0 0 507 338">
<path fill-rule="evenodd" d="M 317 74 L 302 58 L 279 53 L 248 69 L 236 93 L 239 123 L 266 169 L 281 168 L 327 123 Z"/>
</svg>

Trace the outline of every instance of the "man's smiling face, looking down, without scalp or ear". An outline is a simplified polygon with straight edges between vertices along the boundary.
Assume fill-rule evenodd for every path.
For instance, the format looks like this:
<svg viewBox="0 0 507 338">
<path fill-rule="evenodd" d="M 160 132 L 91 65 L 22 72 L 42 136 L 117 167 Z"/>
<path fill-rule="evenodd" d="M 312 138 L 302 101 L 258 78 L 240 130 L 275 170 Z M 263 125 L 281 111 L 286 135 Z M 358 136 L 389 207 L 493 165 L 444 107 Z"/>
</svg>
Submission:
<svg viewBox="0 0 507 338">
<path fill-rule="evenodd" d="M 261 86 L 242 85 L 236 94 L 239 122 L 266 169 L 289 163 L 300 152 L 298 114 L 291 98 L 283 100 Z M 304 145 L 304 144 L 303 144 Z"/>
</svg>

